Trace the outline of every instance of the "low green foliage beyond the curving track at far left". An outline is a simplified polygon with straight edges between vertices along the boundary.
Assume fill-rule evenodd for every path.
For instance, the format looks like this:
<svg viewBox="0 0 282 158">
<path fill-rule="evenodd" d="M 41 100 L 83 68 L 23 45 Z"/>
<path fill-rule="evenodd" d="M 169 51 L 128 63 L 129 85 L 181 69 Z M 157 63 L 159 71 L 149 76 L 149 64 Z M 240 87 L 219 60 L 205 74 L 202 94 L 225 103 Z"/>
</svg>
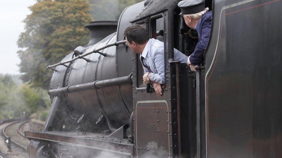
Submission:
<svg viewBox="0 0 282 158">
<path fill-rule="evenodd" d="M 26 83 L 17 86 L 11 75 L 0 74 L 0 120 L 27 115 L 50 106 L 48 94 Z"/>
</svg>

